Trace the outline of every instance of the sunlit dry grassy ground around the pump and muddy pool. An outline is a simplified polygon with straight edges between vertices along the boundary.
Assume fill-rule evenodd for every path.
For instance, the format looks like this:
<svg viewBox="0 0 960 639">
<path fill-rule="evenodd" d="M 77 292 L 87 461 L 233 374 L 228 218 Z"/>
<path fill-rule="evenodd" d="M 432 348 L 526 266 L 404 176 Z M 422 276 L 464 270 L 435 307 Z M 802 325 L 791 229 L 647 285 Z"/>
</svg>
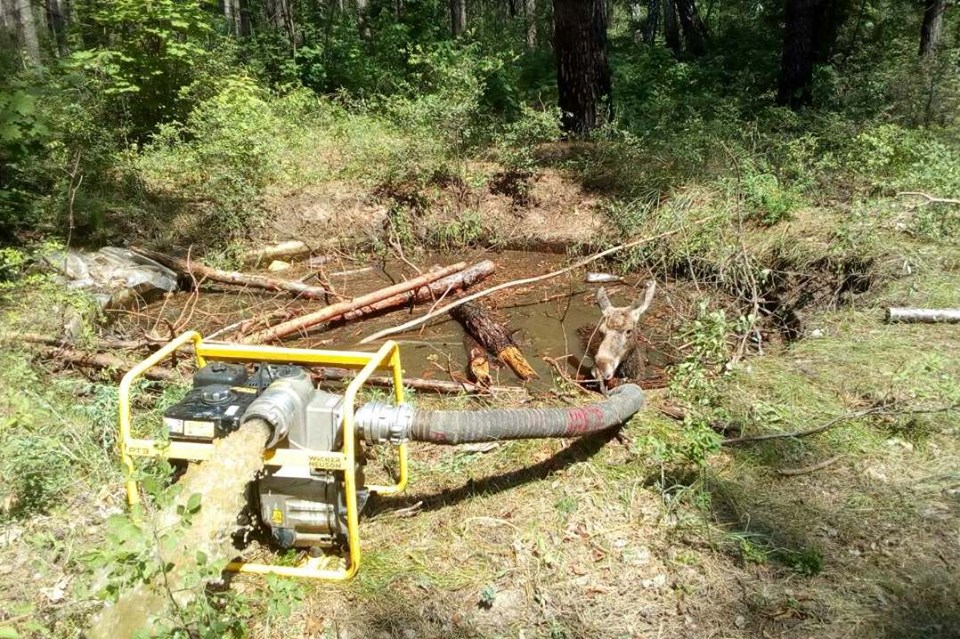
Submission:
<svg viewBox="0 0 960 639">
<path fill-rule="evenodd" d="M 353 255 L 389 250 L 393 237 L 416 261 L 418 247 L 582 251 L 608 243 L 611 216 L 628 214 L 559 171 L 524 184 L 276 192 L 256 235 Z M 722 227 L 697 222 L 718 214 Z M 407 494 L 376 499 L 361 524 L 354 581 L 230 581 L 250 602 L 240 613 L 250 636 L 960 636 L 958 329 L 883 321 L 890 305 L 960 307 L 960 247 L 918 236 L 913 219 L 929 211 L 893 199 L 804 209 L 773 226 L 744 225 L 738 214 L 724 194 L 688 189 L 630 229 L 640 237 L 669 224 L 686 229 L 682 237 L 614 267 L 652 272 L 667 290 L 686 287 L 728 310 L 742 292 L 738 265 L 769 271 L 762 353 L 711 377 L 702 396 L 676 385 L 652 391 L 641 414 L 601 436 L 486 452 L 413 445 Z M 201 228 L 195 222 L 185 215 L 174 224 L 179 237 L 152 239 L 177 244 Z M 8 307 L 7 330 L 46 321 L 39 303 L 24 296 Z M 695 306 L 675 318 L 694 326 L 675 336 L 681 352 L 709 337 Z M 736 319 L 718 320 L 725 343 Z M 110 449 L 115 397 L 16 349 L 2 362 L 5 428 L 47 424 L 66 453 L 38 464 L 67 479 L 42 509 L 0 523 L 0 631 L 82 636 L 100 605 L 82 559 L 123 508 Z M 708 364 L 724 370 L 698 362 Z M 837 424 L 717 450 L 690 420 L 659 410 L 677 403 L 722 418 L 727 436 Z M 2 442 L 5 454 L 39 450 Z M 809 472 L 782 472 L 791 469 Z M 14 509 L 12 491 L 0 497 Z"/>
</svg>

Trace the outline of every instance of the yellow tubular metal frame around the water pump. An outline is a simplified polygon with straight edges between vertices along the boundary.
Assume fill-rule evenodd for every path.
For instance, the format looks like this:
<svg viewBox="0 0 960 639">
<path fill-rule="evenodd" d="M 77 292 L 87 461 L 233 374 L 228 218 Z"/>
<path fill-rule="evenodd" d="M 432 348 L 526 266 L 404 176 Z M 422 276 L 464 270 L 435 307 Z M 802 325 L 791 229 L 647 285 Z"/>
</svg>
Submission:
<svg viewBox="0 0 960 639">
<path fill-rule="evenodd" d="M 196 331 L 186 332 L 145 360 L 134 366 L 120 381 L 120 458 L 127 470 L 127 501 L 131 506 L 140 503 L 140 489 L 134 477 L 134 457 L 166 457 L 187 461 L 209 459 L 213 445 L 201 442 L 158 441 L 142 439 L 132 434 L 130 414 L 130 390 L 133 383 L 148 370 L 175 352 L 193 345 L 197 366 L 206 361 L 225 362 L 272 362 L 278 364 L 298 364 L 307 366 L 341 366 L 359 368 L 357 376 L 347 385 L 343 395 L 343 448 L 340 451 L 313 451 L 293 448 L 277 448 L 263 453 L 264 464 L 268 466 L 300 466 L 312 469 L 336 470 L 343 473 L 344 491 L 347 505 L 347 556 L 346 562 L 340 560 L 335 569 L 324 568 L 325 559 L 307 558 L 298 566 L 272 566 L 237 561 L 227 565 L 227 570 L 254 574 L 275 574 L 284 577 L 302 577 L 308 579 L 326 579 L 344 581 L 357 574 L 360 568 L 360 513 L 357 507 L 356 446 L 354 442 L 354 411 L 356 396 L 360 387 L 377 369 L 390 369 L 393 374 L 393 395 L 397 404 L 402 404 L 403 371 L 400 367 L 400 349 L 396 342 L 388 341 L 376 353 L 353 351 L 328 351 L 305 348 L 280 348 L 274 346 L 251 346 L 244 344 L 225 344 L 204 342 Z M 401 492 L 407 485 L 407 445 L 398 446 L 398 478 L 392 486 L 368 486 L 373 492 L 392 494 Z"/>
</svg>

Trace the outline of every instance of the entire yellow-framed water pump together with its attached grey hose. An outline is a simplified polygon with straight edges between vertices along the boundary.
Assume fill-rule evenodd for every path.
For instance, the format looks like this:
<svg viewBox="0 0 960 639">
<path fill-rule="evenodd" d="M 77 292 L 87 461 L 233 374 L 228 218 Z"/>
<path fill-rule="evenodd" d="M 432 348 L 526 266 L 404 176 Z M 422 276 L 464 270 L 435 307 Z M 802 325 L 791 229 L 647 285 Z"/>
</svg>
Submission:
<svg viewBox="0 0 960 639">
<path fill-rule="evenodd" d="M 166 437 L 136 437 L 130 411 L 133 382 L 182 347 L 192 346 L 198 370 L 184 398 L 163 416 Z M 316 388 L 310 366 L 359 369 L 343 394 Z M 392 372 L 392 402 L 357 408 L 357 391 L 378 368 Z M 578 437 L 628 420 L 643 405 L 637 386 L 620 386 L 604 401 L 574 408 L 425 411 L 404 402 L 399 348 L 387 342 L 376 353 L 208 343 L 186 333 L 127 373 L 120 383 L 120 449 L 130 471 L 127 498 L 140 500 L 134 458 L 203 461 L 214 442 L 248 423 L 270 430 L 264 471 L 251 478 L 252 517 L 278 548 L 306 548 L 299 566 L 235 562 L 233 570 L 295 577 L 347 579 L 360 565 L 359 516 L 372 492 L 402 491 L 407 483 L 407 442 L 435 444 L 539 437 Z M 396 483 L 367 485 L 365 446 L 397 449 Z M 342 549 L 331 564 L 329 552 Z"/>
</svg>

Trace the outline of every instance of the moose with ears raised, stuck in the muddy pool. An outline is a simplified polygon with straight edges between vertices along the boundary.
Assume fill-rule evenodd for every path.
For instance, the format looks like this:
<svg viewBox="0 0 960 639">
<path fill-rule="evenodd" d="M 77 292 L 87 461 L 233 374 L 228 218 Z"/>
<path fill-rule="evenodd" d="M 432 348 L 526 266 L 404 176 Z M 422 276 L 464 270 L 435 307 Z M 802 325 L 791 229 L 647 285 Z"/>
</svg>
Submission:
<svg viewBox="0 0 960 639">
<path fill-rule="evenodd" d="M 600 323 L 579 332 L 586 338 L 587 355 L 593 358 L 594 379 L 606 382 L 614 377 L 639 379 L 646 365 L 643 347 L 639 347 L 637 325 L 653 301 L 657 285 L 647 282 L 643 297 L 629 306 L 614 306 L 603 288 L 597 291 L 597 305 L 603 311 Z"/>
</svg>

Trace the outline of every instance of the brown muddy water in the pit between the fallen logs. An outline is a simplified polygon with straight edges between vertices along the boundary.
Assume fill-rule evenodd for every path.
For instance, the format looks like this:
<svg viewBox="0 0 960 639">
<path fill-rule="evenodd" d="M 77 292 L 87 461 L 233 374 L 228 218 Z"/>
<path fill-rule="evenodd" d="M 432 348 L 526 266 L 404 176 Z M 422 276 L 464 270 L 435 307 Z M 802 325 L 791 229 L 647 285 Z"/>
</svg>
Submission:
<svg viewBox="0 0 960 639">
<path fill-rule="evenodd" d="M 540 275 L 562 268 L 569 263 L 565 255 L 528 251 L 493 252 L 473 250 L 463 253 L 427 253 L 408 257 L 421 270 L 430 266 L 482 259 L 492 260 L 497 269 L 471 291 L 477 291 L 502 282 Z M 322 269 L 306 263 L 296 263 L 276 273 L 263 274 L 283 279 L 302 279 L 316 284 L 321 271 L 336 293 L 351 298 L 415 277 L 417 272 L 401 259 L 357 261 L 333 259 Z M 588 374 L 589 357 L 585 357 L 584 335 L 596 325 L 600 310 L 595 293 L 598 284 L 585 283 L 586 269 L 577 269 L 551 280 L 534 285 L 499 291 L 484 298 L 483 304 L 503 320 L 514 332 L 530 364 L 540 378 L 528 383 L 532 390 L 548 388 L 554 383 L 556 371 L 547 358 L 567 358 L 566 373 L 573 375 L 580 368 Z M 615 305 L 626 305 L 639 297 L 645 278 L 627 275 L 622 282 L 603 284 Z M 212 290 L 211 290 L 212 289 Z M 672 312 L 677 294 L 661 287 L 642 327 L 642 344 L 646 350 L 647 368 L 641 382 L 658 385 L 664 377 L 664 368 L 670 363 L 671 335 L 675 332 Z M 331 302 L 337 298 L 330 298 Z M 449 300 L 443 300 L 441 304 Z M 168 336 L 187 329 L 199 330 L 204 335 L 234 324 L 278 310 L 315 310 L 324 302 L 294 300 L 289 295 L 265 291 L 243 290 L 226 286 L 203 286 L 199 293 L 174 293 L 133 311 L 120 311 L 115 316 L 113 330 L 124 337 L 145 333 Z M 361 346 L 360 340 L 381 329 L 396 326 L 429 310 L 430 305 L 398 309 L 376 317 L 346 324 L 331 323 L 314 327 L 309 332 L 291 336 L 286 346 L 327 348 L 339 350 L 375 350 L 378 344 Z M 464 333 L 460 325 L 449 318 L 437 318 L 426 327 L 413 329 L 393 337 L 401 344 L 401 358 L 405 375 L 424 379 L 448 380 L 451 376 L 463 378 L 467 355 L 463 345 Z M 507 368 L 496 368 L 494 382 L 515 385 L 519 380 Z"/>
</svg>

